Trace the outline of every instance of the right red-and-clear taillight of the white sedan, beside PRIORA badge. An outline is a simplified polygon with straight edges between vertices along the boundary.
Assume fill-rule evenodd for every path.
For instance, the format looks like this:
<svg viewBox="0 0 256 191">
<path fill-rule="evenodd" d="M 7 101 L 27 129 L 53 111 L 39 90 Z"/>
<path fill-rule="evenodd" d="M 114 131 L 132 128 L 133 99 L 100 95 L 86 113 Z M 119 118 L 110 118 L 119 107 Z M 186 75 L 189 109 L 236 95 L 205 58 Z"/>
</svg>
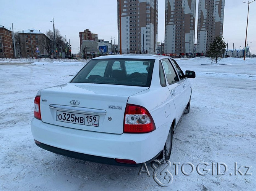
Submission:
<svg viewBox="0 0 256 191">
<path fill-rule="evenodd" d="M 124 133 L 148 133 L 155 129 L 154 121 L 146 108 L 139 105 L 126 105 Z"/>
</svg>

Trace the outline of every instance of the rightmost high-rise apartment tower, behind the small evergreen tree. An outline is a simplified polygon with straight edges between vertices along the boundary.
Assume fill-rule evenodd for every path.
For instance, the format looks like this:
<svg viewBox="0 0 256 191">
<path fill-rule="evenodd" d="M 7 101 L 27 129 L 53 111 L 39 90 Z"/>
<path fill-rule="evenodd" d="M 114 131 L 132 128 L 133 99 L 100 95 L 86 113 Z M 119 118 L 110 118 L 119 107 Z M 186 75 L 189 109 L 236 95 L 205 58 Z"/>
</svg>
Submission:
<svg viewBox="0 0 256 191">
<path fill-rule="evenodd" d="M 206 53 L 210 43 L 223 33 L 225 0 L 199 0 L 197 53 Z"/>
</svg>

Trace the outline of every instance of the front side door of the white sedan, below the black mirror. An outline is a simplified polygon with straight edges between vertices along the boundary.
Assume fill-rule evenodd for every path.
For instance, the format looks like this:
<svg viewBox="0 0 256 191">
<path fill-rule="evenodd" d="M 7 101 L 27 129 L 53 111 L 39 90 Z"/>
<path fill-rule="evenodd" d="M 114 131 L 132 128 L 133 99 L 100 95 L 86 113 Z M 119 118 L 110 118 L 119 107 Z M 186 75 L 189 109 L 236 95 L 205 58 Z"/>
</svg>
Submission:
<svg viewBox="0 0 256 191">
<path fill-rule="evenodd" d="M 177 64 L 177 62 L 175 60 L 171 60 L 174 67 L 177 70 L 178 76 L 180 78 L 180 81 L 182 82 L 184 91 L 185 91 L 185 107 L 188 104 L 188 101 L 190 100 L 190 95 L 191 95 L 191 86 L 190 86 L 190 82 L 188 80 L 188 78 L 185 77 L 184 73 L 182 72 L 180 66 Z"/>
</svg>

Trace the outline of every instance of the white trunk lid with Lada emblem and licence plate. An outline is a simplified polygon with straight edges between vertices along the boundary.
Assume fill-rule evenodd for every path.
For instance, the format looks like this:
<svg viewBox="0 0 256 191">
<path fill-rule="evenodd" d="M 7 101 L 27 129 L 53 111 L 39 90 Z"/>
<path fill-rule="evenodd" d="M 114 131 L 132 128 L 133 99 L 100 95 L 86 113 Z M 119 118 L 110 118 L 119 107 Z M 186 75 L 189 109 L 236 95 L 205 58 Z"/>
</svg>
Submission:
<svg viewBox="0 0 256 191">
<path fill-rule="evenodd" d="M 41 91 L 45 123 L 87 131 L 123 133 L 128 98 L 147 87 L 67 83 Z"/>
</svg>

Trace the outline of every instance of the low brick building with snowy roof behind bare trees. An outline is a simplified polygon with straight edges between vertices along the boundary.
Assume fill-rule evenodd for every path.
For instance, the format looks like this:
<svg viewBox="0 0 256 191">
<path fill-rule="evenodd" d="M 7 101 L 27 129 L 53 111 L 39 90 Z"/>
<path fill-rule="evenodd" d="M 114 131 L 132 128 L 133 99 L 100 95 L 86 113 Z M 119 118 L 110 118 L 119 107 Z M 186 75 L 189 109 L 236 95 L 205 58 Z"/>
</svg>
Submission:
<svg viewBox="0 0 256 191">
<path fill-rule="evenodd" d="M 19 32 L 19 51 L 18 57 L 37 57 L 39 54 L 50 54 L 50 39 L 40 30 L 28 29 Z"/>
</svg>

